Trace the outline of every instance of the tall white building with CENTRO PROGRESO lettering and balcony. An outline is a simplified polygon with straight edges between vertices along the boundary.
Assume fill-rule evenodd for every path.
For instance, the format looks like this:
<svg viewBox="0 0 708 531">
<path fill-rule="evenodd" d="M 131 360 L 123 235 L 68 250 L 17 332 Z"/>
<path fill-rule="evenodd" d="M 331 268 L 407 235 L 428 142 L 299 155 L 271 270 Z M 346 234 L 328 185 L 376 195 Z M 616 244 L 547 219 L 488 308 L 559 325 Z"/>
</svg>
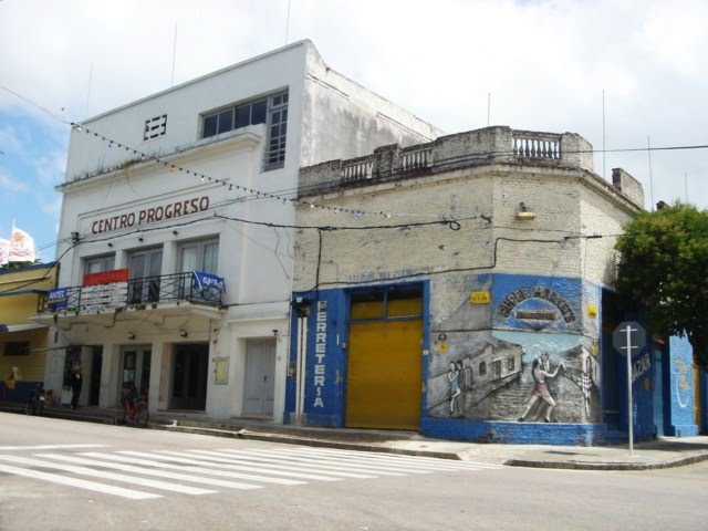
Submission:
<svg viewBox="0 0 708 531">
<path fill-rule="evenodd" d="M 438 131 L 298 42 L 76 124 L 48 388 L 282 421 L 299 168 Z"/>
</svg>

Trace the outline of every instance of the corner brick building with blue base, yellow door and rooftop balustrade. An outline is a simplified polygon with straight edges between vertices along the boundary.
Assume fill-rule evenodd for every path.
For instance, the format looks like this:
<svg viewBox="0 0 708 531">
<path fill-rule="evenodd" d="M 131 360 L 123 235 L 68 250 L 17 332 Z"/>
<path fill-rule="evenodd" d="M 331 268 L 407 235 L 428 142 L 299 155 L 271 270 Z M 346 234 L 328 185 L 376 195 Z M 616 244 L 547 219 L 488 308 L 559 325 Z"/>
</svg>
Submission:
<svg viewBox="0 0 708 531">
<path fill-rule="evenodd" d="M 488 127 L 389 145 L 301 169 L 300 190 L 288 421 L 626 438 L 612 332 L 627 316 L 608 287 L 644 197 L 620 168 L 597 176 L 584 138 Z M 647 344 L 632 361 L 636 436 L 695 434 L 688 388 L 674 399 L 690 348 Z"/>
</svg>

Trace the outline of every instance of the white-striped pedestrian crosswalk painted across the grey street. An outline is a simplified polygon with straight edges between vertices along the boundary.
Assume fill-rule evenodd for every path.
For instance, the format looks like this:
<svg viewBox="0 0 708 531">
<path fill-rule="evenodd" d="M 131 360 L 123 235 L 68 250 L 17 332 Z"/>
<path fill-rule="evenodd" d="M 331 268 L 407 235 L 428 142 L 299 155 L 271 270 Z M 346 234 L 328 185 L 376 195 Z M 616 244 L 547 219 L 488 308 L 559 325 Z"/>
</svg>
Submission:
<svg viewBox="0 0 708 531">
<path fill-rule="evenodd" d="M 501 468 L 469 461 L 311 447 L 137 451 L 86 445 L 17 449 L 29 451 L 10 452 L 7 447 L 0 448 L 0 473 L 133 500 L 163 498 L 168 493 L 202 496 L 317 481 Z"/>
</svg>

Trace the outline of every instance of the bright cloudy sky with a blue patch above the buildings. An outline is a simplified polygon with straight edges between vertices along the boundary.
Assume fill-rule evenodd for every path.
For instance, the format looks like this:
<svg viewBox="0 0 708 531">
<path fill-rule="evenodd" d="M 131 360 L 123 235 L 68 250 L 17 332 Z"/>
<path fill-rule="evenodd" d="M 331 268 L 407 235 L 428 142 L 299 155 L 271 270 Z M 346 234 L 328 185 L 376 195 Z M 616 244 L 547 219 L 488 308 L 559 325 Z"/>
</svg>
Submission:
<svg viewBox="0 0 708 531">
<path fill-rule="evenodd" d="M 446 133 L 579 133 L 647 208 L 706 208 L 707 25 L 704 0 L 0 0 L 0 237 L 54 258 L 62 121 L 301 39 Z"/>
</svg>

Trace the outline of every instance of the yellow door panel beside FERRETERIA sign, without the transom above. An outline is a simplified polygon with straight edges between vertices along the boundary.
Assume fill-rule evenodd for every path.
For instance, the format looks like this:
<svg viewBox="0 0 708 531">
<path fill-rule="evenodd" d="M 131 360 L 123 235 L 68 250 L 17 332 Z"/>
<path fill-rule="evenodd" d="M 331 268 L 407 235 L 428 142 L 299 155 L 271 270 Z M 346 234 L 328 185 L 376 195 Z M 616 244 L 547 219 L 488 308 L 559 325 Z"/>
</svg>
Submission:
<svg viewBox="0 0 708 531">
<path fill-rule="evenodd" d="M 421 340 L 419 319 L 350 323 L 346 427 L 418 428 Z"/>
</svg>

